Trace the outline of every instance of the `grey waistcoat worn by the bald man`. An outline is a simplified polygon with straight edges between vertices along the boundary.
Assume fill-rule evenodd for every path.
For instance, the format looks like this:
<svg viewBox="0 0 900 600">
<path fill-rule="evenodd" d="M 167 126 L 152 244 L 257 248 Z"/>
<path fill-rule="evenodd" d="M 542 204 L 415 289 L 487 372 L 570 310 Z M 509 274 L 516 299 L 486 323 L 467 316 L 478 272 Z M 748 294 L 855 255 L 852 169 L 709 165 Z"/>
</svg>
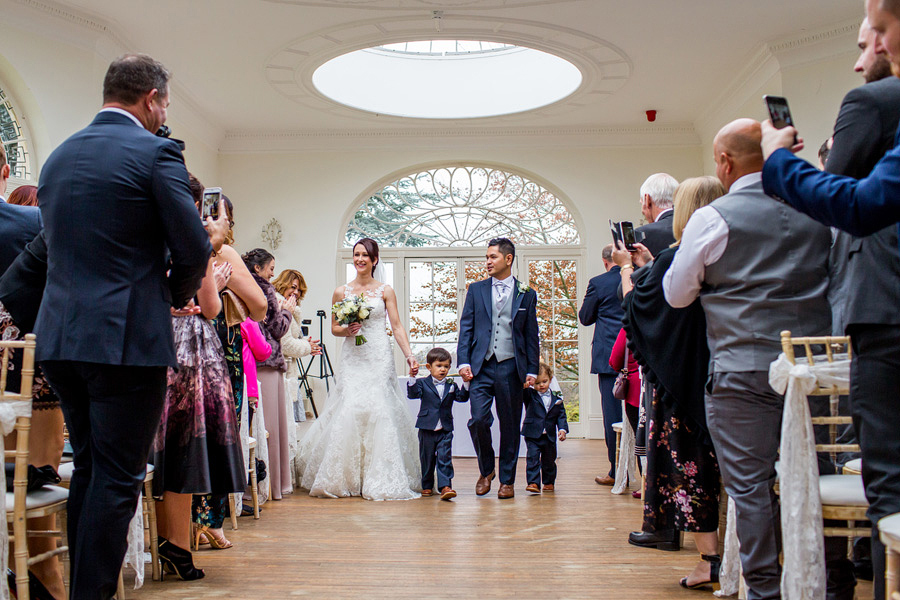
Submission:
<svg viewBox="0 0 900 600">
<path fill-rule="evenodd" d="M 768 371 L 781 352 L 783 330 L 830 333 L 831 232 L 764 194 L 761 183 L 711 206 L 728 224 L 728 245 L 706 267 L 700 293 L 710 371 Z"/>
</svg>

